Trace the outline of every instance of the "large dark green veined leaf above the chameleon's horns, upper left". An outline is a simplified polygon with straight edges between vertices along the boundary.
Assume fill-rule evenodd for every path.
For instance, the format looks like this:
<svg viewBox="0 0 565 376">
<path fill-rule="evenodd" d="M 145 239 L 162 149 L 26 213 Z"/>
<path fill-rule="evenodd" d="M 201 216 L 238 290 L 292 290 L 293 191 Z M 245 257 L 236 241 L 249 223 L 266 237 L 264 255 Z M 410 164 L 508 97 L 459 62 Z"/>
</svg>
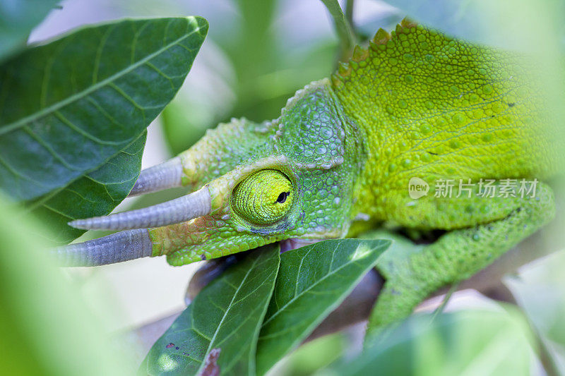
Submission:
<svg viewBox="0 0 565 376">
<path fill-rule="evenodd" d="M 0 67 L 0 186 L 30 200 L 124 150 L 172 99 L 200 48 L 199 17 L 123 20 Z"/>
</svg>

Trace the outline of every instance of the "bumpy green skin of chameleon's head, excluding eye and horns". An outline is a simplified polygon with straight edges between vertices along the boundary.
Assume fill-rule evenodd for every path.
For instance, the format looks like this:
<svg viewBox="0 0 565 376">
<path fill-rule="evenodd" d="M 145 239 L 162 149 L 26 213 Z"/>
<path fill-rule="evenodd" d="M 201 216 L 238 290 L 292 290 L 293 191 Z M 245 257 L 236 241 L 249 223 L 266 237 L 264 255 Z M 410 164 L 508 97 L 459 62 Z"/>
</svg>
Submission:
<svg viewBox="0 0 565 376">
<path fill-rule="evenodd" d="M 278 119 L 261 124 L 234 119 L 209 131 L 180 157 L 186 185 L 206 185 L 213 211 L 151 229 L 153 255 L 166 254 L 171 265 L 184 265 L 287 238 L 345 236 L 362 160 L 357 134 L 329 80 L 299 90 Z M 232 196 L 240 183 L 266 169 L 287 176 L 294 190 L 286 214 L 261 224 L 251 213 L 234 210 Z M 286 190 L 281 187 L 273 198 Z"/>
</svg>

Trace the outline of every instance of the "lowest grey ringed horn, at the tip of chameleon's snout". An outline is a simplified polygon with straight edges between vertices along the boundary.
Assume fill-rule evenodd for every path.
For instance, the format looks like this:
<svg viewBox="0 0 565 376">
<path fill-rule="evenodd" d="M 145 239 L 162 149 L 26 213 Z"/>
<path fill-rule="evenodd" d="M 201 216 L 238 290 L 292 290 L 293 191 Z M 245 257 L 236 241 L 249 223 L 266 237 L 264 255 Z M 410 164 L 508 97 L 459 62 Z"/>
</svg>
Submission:
<svg viewBox="0 0 565 376">
<path fill-rule="evenodd" d="M 136 229 L 54 248 L 52 254 L 64 267 L 92 267 L 148 257 L 152 250 L 147 229 Z"/>
</svg>

